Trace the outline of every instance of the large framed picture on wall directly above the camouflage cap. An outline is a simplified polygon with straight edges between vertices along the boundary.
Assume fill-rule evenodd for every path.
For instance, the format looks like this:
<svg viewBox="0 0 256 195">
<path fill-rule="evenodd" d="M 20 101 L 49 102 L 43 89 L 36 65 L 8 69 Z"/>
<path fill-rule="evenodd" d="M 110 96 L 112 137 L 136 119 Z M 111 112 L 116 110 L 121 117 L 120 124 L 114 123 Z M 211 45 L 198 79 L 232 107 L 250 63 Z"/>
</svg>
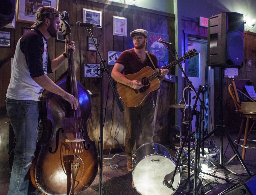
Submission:
<svg viewBox="0 0 256 195">
<path fill-rule="evenodd" d="M 51 6 L 56 8 L 56 5 L 58 5 L 57 1 L 58 0 L 17 0 L 16 21 L 33 24 L 36 21 L 35 12 L 39 7 Z"/>
</svg>

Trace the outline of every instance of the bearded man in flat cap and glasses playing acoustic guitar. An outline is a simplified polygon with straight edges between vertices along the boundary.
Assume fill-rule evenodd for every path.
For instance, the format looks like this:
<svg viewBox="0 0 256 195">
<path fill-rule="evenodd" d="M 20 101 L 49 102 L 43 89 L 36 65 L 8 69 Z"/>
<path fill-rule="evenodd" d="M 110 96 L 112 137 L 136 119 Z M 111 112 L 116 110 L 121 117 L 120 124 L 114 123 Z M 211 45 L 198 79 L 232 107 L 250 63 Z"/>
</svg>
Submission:
<svg viewBox="0 0 256 195">
<path fill-rule="evenodd" d="M 144 29 L 136 29 L 130 33 L 133 38 L 134 48 L 123 51 L 117 59 L 111 76 L 118 83 L 129 86 L 134 90 L 142 88 L 144 85 L 141 81 L 130 80 L 124 75 L 139 72 L 144 67 L 151 67 L 158 71 L 157 58 L 154 54 L 146 53 L 147 31 Z M 149 57 L 150 56 L 150 57 Z M 150 59 L 151 58 L 151 59 Z M 154 64 L 154 65 L 153 65 Z M 121 73 L 123 72 L 123 74 Z M 162 81 L 169 72 L 162 66 L 161 75 L 158 77 Z M 150 143 L 153 141 L 154 135 L 154 100 L 152 94 L 149 94 L 141 104 L 136 107 L 129 107 L 124 104 L 126 118 L 126 136 L 125 136 L 125 152 L 127 157 L 127 170 L 132 171 L 131 157 L 136 151 L 136 128 L 138 120 L 141 123 L 142 143 Z"/>
</svg>

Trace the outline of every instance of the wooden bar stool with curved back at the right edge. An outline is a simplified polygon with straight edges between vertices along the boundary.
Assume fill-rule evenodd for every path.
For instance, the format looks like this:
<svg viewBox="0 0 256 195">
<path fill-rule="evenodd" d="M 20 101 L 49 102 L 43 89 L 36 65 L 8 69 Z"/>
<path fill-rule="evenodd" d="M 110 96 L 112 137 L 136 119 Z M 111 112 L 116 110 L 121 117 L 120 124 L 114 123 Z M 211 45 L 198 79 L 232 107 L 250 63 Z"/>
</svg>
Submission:
<svg viewBox="0 0 256 195">
<path fill-rule="evenodd" d="M 237 99 L 235 98 L 235 91 L 234 91 L 234 87 L 233 84 L 229 85 L 229 94 L 231 95 L 234 104 L 235 104 L 235 108 L 236 108 L 236 113 L 238 113 L 241 117 L 242 117 L 242 121 L 241 121 L 241 125 L 240 125 L 240 129 L 239 129 L 239 133 L 238 133 L 238 137 L 237 140 L 234 141 L 234 143 L 236 144 L 236 147 L 238 148 L 238 146 L 241 146 L 243 148 L 242 150 L 242 159 L 245 160 L 245 151 L 246 148 L 250 148 L 250 149 L 256 149 L 255 147 L 249 147 L 247 146 L 247 138 L 250 135 L 251 131 L 253 130 L 254 124 L 255 124 L 255 120 L 256 120 L 256 112 L 250 112 L 250 111 L 243 111 L 241 110 L 241 104 L 237 101 Z M 250 123 L 250 119 L 253 120 L 253 123 L 249 129 L 249 123 Z M 245 124 L 246 121 L 246 124 Z M 243 127 L 245 124 L 245 136 L 244 139 L 241 140 L 241 134 L 243 132 Z M 249 129 L 249 132 L 248 132 Z M 239 142 L 243 141 L 243 145 L 239 144 Z M 248 141 L 255 141 L 255 140 L 248 140 Z"/>
</svg>

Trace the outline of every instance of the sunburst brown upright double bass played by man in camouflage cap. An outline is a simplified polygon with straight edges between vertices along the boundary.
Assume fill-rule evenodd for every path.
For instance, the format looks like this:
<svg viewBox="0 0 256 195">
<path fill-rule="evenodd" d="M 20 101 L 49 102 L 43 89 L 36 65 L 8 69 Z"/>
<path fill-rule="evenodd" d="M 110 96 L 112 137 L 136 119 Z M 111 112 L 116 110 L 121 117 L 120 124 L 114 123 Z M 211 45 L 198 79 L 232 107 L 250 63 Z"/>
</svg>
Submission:
<svg viewBox="0 0 256 195">
<path fill-rule="evenodd" d="M 62 12 L 60 25 L 69 44 L 67 19 L 68 13 Z M 56 84 L 79 100 L 77 110 L 59 95 L 45 91 L 42 96 L 43 135 L 30 174 L 33 185 L 45 194 L 78 194 L 98 172 L 97 148 L 87 133 L 91 97 L 76 80 L 72 50 L 68 51 L 68 58 L 68 70 Z"/>
</svg>

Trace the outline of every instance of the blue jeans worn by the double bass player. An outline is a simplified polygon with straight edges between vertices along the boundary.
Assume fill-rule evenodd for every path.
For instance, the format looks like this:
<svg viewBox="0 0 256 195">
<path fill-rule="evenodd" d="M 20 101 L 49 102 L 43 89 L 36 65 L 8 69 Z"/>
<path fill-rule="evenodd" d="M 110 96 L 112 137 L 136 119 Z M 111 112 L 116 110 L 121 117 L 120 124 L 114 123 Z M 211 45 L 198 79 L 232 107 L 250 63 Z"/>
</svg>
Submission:
<svg viewBox="0 0 256 195">
<path fill-rule="evenodd" d="M 40 101 L 6 98 L 6 110 L 16 139 L 8 195 L 27 195 L 29 169 L 37 145 Z"/>
</svg>

